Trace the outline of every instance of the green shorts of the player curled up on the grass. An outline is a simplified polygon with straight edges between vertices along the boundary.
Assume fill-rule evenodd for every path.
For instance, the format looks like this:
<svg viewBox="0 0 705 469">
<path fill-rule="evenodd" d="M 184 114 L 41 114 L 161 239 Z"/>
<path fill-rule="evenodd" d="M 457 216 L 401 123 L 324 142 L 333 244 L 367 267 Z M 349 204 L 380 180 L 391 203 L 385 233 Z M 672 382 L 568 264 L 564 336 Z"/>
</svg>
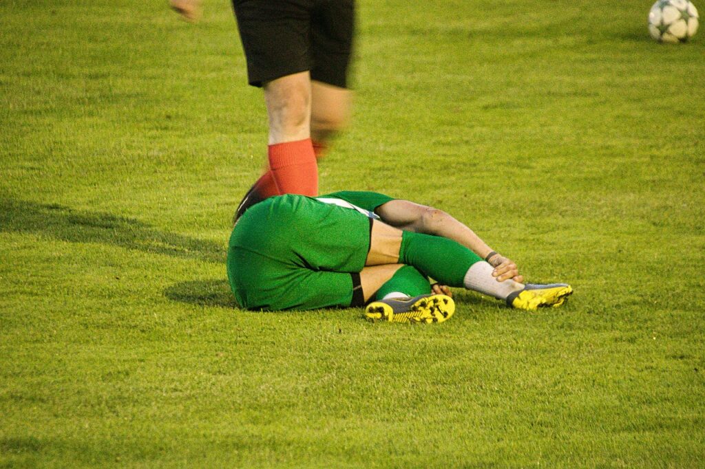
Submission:
<svg viewBox="0 0 705 469">
<path fill-rule="evenodd" d="M 228 246 L 235 299 L 243 308 L 268 311 L 350 306 L 351 274 L 364 268 L 370 226 L 367 215 L 306 196 L 252 206 Z"/>
</svg>

